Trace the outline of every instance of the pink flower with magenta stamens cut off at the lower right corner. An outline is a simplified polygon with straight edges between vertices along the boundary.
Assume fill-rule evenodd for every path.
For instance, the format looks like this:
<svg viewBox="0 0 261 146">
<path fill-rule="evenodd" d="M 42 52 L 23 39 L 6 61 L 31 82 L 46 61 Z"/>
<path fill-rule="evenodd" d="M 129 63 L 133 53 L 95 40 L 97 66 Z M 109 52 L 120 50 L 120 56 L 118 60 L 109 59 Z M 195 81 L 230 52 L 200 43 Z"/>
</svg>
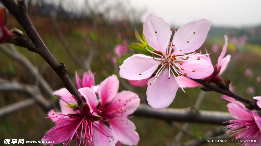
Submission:
<svg viewBox="0 0 261 146">
<path fill-rule="evenodd" d="M 229 128 L 227 132 L 235 132 L 231 137 L 236 139 L 245 139 L 245 138 L 258 138 L 258 143 L 261 142 L 261 118 L 257 111 L 250 111 L 245 108 L 245 105 L 239 101 L 235 101 L 234 98 L 231 98 L 226 95 L 222 95 L 222 98 L 231 102 L 227 104 L 228 111 L 234 118 L 237 120 L 229 120 L 226 128 Z M 225 123 L 225 122 L 224 122 Z M 259 144 L 253 143 L 243 143 L 246 146 L 254 146 Z"/>
</svg>

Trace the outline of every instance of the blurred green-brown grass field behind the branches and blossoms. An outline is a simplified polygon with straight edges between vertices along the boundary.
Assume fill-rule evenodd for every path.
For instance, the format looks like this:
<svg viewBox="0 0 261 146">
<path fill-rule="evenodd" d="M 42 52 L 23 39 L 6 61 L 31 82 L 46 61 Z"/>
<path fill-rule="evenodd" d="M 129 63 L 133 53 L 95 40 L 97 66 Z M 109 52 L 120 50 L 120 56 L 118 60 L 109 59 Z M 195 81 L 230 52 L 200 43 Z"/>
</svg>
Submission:
<svg viewBox="0 0 261 146">
<path fill-rule="evenodd" d="M 76 64 L 68 52 L 64 49 L 58 35 L 55 33 L 55 29 L 49 18 L 46 17 L 31 17 L 33 24 L 38 30 L 41 38 L 45 42 L 46 46 L 52 53 L 52 55 L 57 59 L 57 61 L 63 62 L 67 65 L 69 71 L 69 77 L 73 83 L 75 83 L 75 71 L 81 75 L 84 70 Z M 69 28 L 66 21 L 59 20 L 58 24 L 66 38 L 67 43 L 75 54 L 79 57 L 88 56 L 90 46 L 86 43 L 86 37 L 91 37 L 88 34 L 95 33 L 97 35 L 95 56 L 91 64 L 91 69 L 95 72 L 95 84 L 99 84 L 106 77 L 116 74 L 113 64 L 110 59 L 106 59 L 107 53 L 112 53 L 114 47 L 119 39 L 117 34 L 123 32 L 125 38 L 128 40 L 128 44 L 132 42 L 137 42 L 134 36 L 134 26 L 128 24 L 127 28 L 123 28 L 117 24 L 108 24 L 106 22 L 99 22 L 97 26 L 97 31 L 92 32 L 92 23 L 84 21 L 74 21 L 73 28 Z M 21 26 L 14 20 L 13 17 L 9 16 L 9 21 L 7 24 L 8 28 L 17 27 L 22 29 Z M 138 32 L 141 31 L 141 24 L 137 24 Z M 204 52 L 204 47 L 208 52 L 211 51 L 211 47 L 214 43 L 223 46 L 224 38 L 215 38 L 212 41 L 206 41 L 201 50 Z M 55 72 L 48 67 L 46 68 L 46 63 L 41 56 L 36 53 L 30 52 L 25 48 L 17 47 L 17 49 L 27 56 L 32 63 L 43 71 L 43 76 L 51 85 L 54 90 L 64 87 L 60 78 L 55 74 Z M 260 83 L 256 81 L 256 77 L 260 76 L 260 57 L 261 47 L 257 44 L 247 44 L 242 52 L 238 52 L 235 46 L 232 44 L 228 45 L 227 54 L 232 55 L 232 60 L 230 61 L 227 70 L 221 75 L 223 79 L 229 79 L 233 86 L 236 87 L 236 93 L 244 96 L 246 98 L 252 99 L 253 96 L 259 96 L 260 93 Z M 131 50 L 126 56 L 130 56 L 135 51 Z M 221 48 L 218 53 L 212 53 L 211 60 L 213 65 L 216 64 L 217 58 L 220 55 Z M 258 53 L 257 53 L 258 52 Z M 121 64 L 124 60 L 118 59 L 118 63 Z M 0 51 L 0 77 L 9 80 L 16 80 L 18 82 L 26 84 L 35 84 L 35 79 L 29 75 L 29 72 L 22 64 L 13 61 L 8 56 Z M 47 65 L 48 66 L 48 65 Z M 245 77 L 246 68 L 253 70 L 253 77 Z M 126 83 L 127 80 L 124 79 Z M 248 87 L 254 87 L 254 95 L 249 95 L 246 93 Z M 146 95 L 146 87 L 133 87 L 137 93 Z M 124 90 L 120 86 L 120 91 Z M 194 105 L 199 93 L 200 87 L 187 88 L 185 91 L 188 94 L 184 94 L 181 89 L 177 91 L 176 97 L 173 103 L 170 104 L 170 108 L 187 108 Z M 21 101 L 22 99 L 28 98 L 26 95 L 17 92 L 2 92 L 0 93 L 0 107 L 5 105 Z M 221 94 L 209 91 L 203 100 L 200 109 L 201 110 L 216 110 L 216 111 L 227 111 L 227 101 L 221 98 Z M 14 112 L 0 119 L 0 142 L 7 138 L 25 138 L 25 140 L 40 140 L 45 131 L 49 130 L 54 126 L 51 120 L 44 119 L 46 113 L 40 109 L 37 105 L 22 109 L 20 111 Z M 171 143 L 173 138 L 177 135 L 178 130 L 162 120 L 157 120 L 153 118 L 146 117 L 134 117 L 132 121 L 136 125 L 137 132 L 140 135 L 139 146 L 151 145 L 151 146 L 163 146 L 167 143 Z M 179 122 L 182 125 L 182 122 Z M 213 130 L 219 125 L 211 124 L 198 124 L 192 123 L 194 127 L 198 129 L 200 133 L 205 133 L 206 131 Z M 192 130 L 192 128 L 190 128 Z M 193 131 L 193 130 L 192 130 Z M 182 141 L 190 140 L 188 137 L 184 136 Z M 1 145 L 0 144 L 0 145 Z M 24 145 L 37 145 L 37 144 L 24 144 Z M 40 145 L 40 144 L 38 144 Z M 205 144 L 210 145 L 210 144 Z M 214 145 L 214 144 L 213 144 Z M 221 145 L 221 144 L 215 144 Z M 224 144 L 224 145 L 234 145 L 234 144 Z"/>
</svg>

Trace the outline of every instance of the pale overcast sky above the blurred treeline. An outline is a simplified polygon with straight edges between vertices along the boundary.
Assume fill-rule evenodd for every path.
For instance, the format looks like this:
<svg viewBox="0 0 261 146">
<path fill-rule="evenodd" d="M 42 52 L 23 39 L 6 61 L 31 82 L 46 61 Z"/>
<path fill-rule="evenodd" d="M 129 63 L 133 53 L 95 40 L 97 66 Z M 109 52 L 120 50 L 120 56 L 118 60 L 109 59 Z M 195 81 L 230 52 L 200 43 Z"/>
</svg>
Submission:
<svg viewBox="0 0 261 146">
<path fill-rule="evenodd" d="M 261 25 L 261 0 L 130 0 L 136 9 L 146 9 L 141 17 L 154 13 L 164 21 L 181 26 L 206 18 L 215 26 Z"/>
</svg>

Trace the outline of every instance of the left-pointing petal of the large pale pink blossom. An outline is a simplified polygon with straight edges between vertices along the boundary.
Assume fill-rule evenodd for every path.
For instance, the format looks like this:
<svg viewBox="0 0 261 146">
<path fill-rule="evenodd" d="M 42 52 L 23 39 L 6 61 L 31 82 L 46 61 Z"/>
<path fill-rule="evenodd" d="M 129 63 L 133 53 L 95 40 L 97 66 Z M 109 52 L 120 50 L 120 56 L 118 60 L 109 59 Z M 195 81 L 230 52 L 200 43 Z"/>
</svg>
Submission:
<svg viewBox="0 0 261 146">
<path fill-rule="evenodd" d="M 158 68 L 157 64 L 160 63 L 161 61 L 152 59 L 152 57 L 143 54 L 135 54 L 124 60 L 123 64 L 120 66 L 120 76 L 129 80 L 146 79 L 151 77 L 153 72 Z M 145 71 L 147 72 L 143 73 Z"/>
</svg>

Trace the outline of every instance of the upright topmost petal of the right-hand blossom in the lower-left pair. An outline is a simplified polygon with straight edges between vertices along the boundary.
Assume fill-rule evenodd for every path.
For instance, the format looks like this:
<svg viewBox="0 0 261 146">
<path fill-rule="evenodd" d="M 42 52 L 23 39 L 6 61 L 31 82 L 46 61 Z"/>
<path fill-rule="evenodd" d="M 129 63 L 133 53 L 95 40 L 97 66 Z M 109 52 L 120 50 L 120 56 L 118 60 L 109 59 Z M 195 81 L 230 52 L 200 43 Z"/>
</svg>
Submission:
<svg viewBox="0 0 261 146">
<path fill-rule="evenodd" d="M 120 82 L 116 75 L 109 76 L 100 83 L 98 94 L 102 105 L 110 102 L 116 96 L 119 90 L 119 84 Z"/>
</svg>

